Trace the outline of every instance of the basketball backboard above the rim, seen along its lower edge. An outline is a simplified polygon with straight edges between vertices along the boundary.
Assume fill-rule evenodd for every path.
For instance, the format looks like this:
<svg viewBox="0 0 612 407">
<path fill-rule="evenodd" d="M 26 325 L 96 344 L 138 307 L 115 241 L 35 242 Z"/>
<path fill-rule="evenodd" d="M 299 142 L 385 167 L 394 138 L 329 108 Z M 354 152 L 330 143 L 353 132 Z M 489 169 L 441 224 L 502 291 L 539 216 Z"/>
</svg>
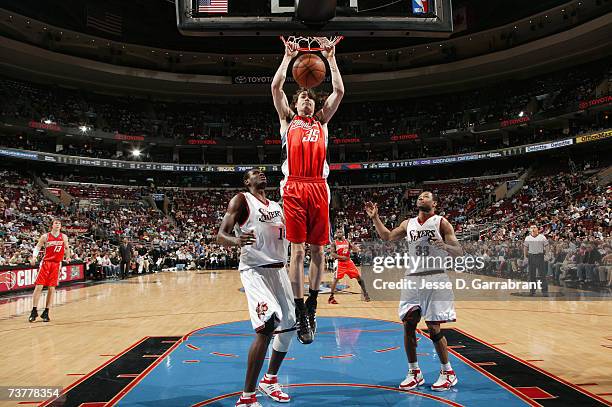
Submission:
<svg viewBox="0 0 612 407">
<path fill-rule="evenodd" d="M 295 19 L 296 0 L 176 0 L 177 25 L 190 36 L 350 35 L 448 37 L 451 0 L 338 0 L 321 27 Z M 301 0 L 308 1 L 308 0 Z"/>
</svg>

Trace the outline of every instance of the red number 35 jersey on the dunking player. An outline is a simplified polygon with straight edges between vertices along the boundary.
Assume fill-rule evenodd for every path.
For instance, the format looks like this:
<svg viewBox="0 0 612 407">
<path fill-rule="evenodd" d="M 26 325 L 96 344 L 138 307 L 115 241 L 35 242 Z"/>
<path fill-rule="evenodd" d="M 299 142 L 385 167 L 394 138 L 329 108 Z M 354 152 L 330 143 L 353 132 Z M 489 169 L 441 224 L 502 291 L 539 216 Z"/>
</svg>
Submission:
<svg viewBox="0 0 612 407">
<path fill-rule="evenodd" d="M 295 115 L 282 136 L 286 177 L 327 178 L 327 135 L 314 117 Z"/>
</svg>

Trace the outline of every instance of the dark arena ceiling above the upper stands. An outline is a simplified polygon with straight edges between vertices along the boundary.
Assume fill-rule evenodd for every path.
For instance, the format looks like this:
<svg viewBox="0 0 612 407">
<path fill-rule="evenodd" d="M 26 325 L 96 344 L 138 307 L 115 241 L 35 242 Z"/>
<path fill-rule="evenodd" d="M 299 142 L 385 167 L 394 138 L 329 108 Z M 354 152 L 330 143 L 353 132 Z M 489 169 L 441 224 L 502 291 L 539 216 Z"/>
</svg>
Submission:
<svg viewBox="0 0 612 407">
<path fill-rule="evenodd" d="M 247 0 L 240 0 L 247 1 Z M 253 1 L 253 0 L 248 0 Z M 380 0 L 384 4 L 384 0 Z M 605 0 L 608 1 L 608 0 Z M 455 8 L 465 6 L 469 30 L 461 35 L 504 25 L 566 3 L 559 0 L 457 0 Z M 123 18 L 121 35 L 111 35 L 88 28 L 88 5 L 108 8 Z M 172 0 L 3 0 L 2 7 L 57 27 L 97 35 L 113 41 L 166 49 L 222 53 L 281 52 L 276 37 L 185 37 L 176 28 Z M 422 44 L 425 38 L 363 38 L 343 45 L 343 51 L 389 49 Z"/>
</svg>

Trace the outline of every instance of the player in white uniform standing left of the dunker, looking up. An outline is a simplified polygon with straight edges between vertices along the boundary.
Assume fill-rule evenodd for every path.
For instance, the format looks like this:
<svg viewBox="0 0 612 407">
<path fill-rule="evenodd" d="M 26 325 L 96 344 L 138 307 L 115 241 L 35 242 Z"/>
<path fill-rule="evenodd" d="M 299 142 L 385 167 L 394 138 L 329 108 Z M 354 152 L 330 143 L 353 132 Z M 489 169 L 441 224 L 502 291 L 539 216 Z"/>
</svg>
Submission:
<svg viewBox="0 0 612 407">
<path fill-rule="evenodd" d="M 282 208 L 266 199 L 267 180 L 260 170 L 246 172 L 244 185 L 248 192 L 239 193 L 230 201 L 217 241 L 241 248 L 238 269 L 256 332 L 249 350 L 244 390 L 236 406 L 261 407 L 255 395 L 257 377 L 277 329 L 268 372 L 259 382 L 259 390 L 280 403 L 290 400 L 281 390 L 277 374 L 293 337 L 290 331 L 295 327 L 295 309 L 285 269 L 287 241 Z"/>
</svg>

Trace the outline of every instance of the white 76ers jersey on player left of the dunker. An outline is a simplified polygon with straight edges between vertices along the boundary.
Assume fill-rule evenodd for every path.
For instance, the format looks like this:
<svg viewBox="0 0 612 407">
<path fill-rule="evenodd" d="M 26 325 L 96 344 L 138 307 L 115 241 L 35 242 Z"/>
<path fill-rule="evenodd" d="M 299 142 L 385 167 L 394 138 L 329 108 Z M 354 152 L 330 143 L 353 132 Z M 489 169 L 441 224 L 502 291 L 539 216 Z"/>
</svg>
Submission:
<svg viewBox="0 0 612 407">
<path fill-rule="evenodd" d="M 250 192 L 243 193 L 249 215 L 246 222 L 236 225 L 236 235 L 246 232 L 255 234 L 255 243 L 242 246 L 238 270 L 264 266 L 266 264 L 285 263 L 287 260 L 287 240 L 285 239 L 285 222 L 283 209 L 274 201 L 267 204 L 257 199 Z"/>
</svg>

